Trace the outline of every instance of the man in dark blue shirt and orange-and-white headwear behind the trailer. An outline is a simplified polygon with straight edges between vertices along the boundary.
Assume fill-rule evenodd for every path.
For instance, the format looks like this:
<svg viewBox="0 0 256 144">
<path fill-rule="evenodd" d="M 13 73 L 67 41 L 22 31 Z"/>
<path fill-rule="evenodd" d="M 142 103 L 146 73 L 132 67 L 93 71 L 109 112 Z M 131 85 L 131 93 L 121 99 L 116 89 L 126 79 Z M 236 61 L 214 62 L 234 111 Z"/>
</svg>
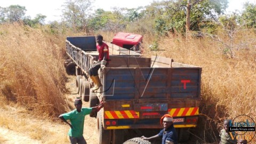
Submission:
<svg viewBox="0 0 256 144">
<path fill-rule="evenodd" d="M 161 125 L 164 126 L 164 129 L 161 130 L 158 134 L 153 137 L 146 138 L 141 137 L 143 140 L 151 140 L 155 138 L 162 138 L 162 144 L 178 144 L 178 136 L 173 126 L 173 118 L 171 115 L 166 114 L 161 118 Z"/>
</svg>

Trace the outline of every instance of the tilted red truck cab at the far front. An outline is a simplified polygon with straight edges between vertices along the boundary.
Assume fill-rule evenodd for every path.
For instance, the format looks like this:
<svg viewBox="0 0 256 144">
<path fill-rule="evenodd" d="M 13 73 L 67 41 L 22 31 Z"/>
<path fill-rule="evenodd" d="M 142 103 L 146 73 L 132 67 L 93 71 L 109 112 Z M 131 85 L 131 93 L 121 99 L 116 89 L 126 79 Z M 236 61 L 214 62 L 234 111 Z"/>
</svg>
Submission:
<svg viewBox="0 0 256 144">
<path fill-rule="evenodd" d="M 140 44 L 142 43 L 142 36 L 139 34 L 119 32 L 115 34 L 111 43 L 123 47 L 127 50 L 141 53 Z"/>
</svg>

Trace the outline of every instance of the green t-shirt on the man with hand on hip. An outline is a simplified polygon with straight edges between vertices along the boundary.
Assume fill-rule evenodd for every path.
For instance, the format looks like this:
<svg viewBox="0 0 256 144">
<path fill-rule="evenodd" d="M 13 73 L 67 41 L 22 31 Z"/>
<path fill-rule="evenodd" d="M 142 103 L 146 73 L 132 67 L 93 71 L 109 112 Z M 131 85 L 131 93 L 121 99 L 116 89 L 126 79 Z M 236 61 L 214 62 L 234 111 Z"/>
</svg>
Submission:
<svg viewBox="0 0 256 144">
<path fill-rule="evenodd" d="M 76 109 L 70 111 L 69 113 L 62 114 L 63 118 L 69 119 L 73 129 L 69 129 L 68 135 L 70 137 L 82 137 L 84 132 L 84 117 L 89 115 L 92 108 L 82 108 L 81 112 L 78 113 Z"/>
</svg>

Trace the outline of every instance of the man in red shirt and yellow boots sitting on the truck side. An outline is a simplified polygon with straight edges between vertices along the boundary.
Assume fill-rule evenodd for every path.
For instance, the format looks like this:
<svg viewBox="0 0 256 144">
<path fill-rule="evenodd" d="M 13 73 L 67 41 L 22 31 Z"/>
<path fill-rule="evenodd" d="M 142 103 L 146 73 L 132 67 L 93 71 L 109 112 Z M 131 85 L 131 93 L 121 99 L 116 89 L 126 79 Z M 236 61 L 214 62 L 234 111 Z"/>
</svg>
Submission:
<svg viewBox="0 0 256 144">
<path fill-rule="evenodd" d="M 96 42 L 97 44 L 97 51 L 99 52 L 99 59 L 98 62 L 94 63 L 92 67 L 89 69 L 90 78 L 94 82 L 94 87 L 92 88 L 92 91 L 97 91 L 100 86 L 100 78 L 98 74 L 98 70 L 100 68 L 105 68 L 107 65 L 107 61 L 109 60 L 109 51 L 108 51 L 108 45 L 106 43 L 103 43 L 103 37 L 101 35 L 96 36 Z"/>
</svg>

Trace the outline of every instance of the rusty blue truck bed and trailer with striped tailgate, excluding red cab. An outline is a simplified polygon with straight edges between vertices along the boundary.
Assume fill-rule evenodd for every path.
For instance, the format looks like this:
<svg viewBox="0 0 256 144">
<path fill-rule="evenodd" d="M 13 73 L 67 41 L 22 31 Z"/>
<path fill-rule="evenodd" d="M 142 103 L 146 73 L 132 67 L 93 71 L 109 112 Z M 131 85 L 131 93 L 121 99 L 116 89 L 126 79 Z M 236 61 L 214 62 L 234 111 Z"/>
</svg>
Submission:
<svg viewBox="0 0 256 144">
<path fill-rule="evenodd" d="M 67 37 L 66 51 L 75 65 L 76 86 L 80 97 L 94 107 L 104 107 L 97 118 L 100 144 L 120 144 L 134 137 L 152 136 L 162 129 L 164 114 L 173 116 L 180 142 L 189 139 L 189 129 L 196 127 L 201 100 L 202 68 L 158 57 L 144 58 L 140 53 L 113 43 L 109 46 L 110 62 L 99 69 L 102 83 L 93 92 L 94 83 L 88 70 L 98 60 L 94 36 Z"/>
</svg>

